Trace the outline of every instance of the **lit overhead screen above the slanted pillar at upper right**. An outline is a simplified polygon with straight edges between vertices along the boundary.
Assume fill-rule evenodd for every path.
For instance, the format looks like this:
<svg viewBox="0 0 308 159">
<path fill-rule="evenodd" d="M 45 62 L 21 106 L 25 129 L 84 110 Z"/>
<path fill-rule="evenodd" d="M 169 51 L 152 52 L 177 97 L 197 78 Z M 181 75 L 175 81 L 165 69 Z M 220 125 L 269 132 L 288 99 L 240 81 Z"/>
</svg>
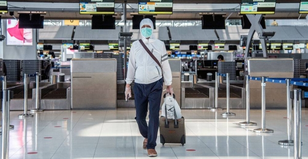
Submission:
<svg viewBox="0 0 308 159">
<path fill-rule="evenodd" d="M 240 14 L 275 14 L 276 0 L 242 0 Z"/>
</svg>

